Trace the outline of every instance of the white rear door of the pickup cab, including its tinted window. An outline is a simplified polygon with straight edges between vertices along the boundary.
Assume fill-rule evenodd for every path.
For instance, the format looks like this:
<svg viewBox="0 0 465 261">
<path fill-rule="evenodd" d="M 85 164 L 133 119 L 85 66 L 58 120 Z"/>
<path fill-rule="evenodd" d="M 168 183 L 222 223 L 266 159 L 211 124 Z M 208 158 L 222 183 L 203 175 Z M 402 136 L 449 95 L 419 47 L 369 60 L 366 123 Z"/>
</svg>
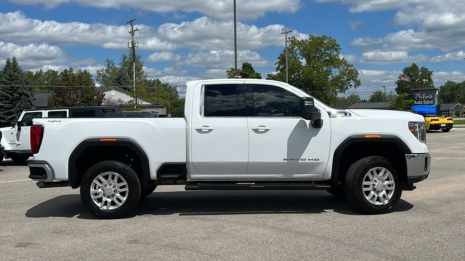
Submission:
<svg viewBox="0 0 465 261">
<path fill-rule="evenodd" d="M 190 130 L 195 169 L 201 174 L 246 174 L 249 138 L 244 84 L 208 84 L 198 91 L 201 99 L 193 103 L 197 109 L 192 112 Z"/>
</svg>

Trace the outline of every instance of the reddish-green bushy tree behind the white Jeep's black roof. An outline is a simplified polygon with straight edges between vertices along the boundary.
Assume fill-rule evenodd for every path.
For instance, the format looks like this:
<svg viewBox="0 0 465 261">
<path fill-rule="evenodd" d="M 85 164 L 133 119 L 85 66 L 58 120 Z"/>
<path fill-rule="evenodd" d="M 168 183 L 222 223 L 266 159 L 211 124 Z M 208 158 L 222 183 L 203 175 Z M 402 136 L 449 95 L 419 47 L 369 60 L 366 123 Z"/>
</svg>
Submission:
<svg viewBox="0 0 465 261">
<path fill-rule="evenodd" d="M 86 70 L 74 73 L 73 68 L 60 72 L 53 86 L 48 107 L 100 106 L 104 93 L 95 90 L 92 74 Z"/>
</svg>

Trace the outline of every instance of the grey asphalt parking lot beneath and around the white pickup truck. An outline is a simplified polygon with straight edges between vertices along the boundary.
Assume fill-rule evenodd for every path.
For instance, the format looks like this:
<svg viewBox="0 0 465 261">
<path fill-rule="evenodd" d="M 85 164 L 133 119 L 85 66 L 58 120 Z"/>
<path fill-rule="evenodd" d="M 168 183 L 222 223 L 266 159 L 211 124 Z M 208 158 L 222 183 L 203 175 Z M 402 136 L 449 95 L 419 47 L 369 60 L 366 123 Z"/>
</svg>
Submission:
<svg viewBox="0 0 465 261">
<path fill-rule="evenodd" d="M 326 191 L 160 186 L 129 217 L 96 220 L 78 189 L 39 189 L 4 160 L 0 260 L 464 260 L 465 128 L 427 145 L 429 178 L 385 215 Z"/>
</svg>

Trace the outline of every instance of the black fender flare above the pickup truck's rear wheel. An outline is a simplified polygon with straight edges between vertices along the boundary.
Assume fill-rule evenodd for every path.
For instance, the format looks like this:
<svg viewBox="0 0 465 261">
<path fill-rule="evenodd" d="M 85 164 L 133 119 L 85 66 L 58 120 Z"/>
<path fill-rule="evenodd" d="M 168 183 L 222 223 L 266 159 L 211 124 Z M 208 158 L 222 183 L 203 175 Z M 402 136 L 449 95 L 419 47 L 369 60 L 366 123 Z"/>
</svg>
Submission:
<svg viewBox="0 0 465 261">
<path fill-rule="evenodd" d="M 100 139 L 109 139 L 108 137 L 102 138 L 91 138 L 82 141 L 76 148 L 74 148 L 73 152 L 69 156 L 68 160 L 68 181 L 71 184 L 73 189 L 79 188 L 80 184 L 78 181 L 78 177 L 76 176 L 76 160 L 81 155 L 81 153 L 89 148 L 89 147 L 97 147 L 97 146 L 122 146 L 132 149 L 138 157 L 140 157 L 140 161 L 142 163 L 142 177 L 143 177 L 143 186 L 144 188 L 148 188 L 152 185 L 152 181 L 150 179 L 150 164 L 145 151 L 140 147 L 132 139 L 128 138 L 116 138 L 114 141 L 101 141 Z"/>
</svg>

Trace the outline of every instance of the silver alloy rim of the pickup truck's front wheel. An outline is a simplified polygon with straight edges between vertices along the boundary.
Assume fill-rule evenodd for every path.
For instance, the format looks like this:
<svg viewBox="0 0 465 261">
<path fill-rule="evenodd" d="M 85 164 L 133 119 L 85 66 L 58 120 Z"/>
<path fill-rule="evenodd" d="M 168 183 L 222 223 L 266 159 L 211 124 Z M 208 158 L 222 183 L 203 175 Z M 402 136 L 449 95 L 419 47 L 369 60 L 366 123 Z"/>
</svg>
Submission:
<svg viewBox="0 0 465 261">
<path fill-rule="evenodd" d="M 394 176 L 391 171 L 383 167 L 369 170 L 363 178 L 363 195 L 373 205 L 387 204 L 394 195 L 395 188 Z"/>
</svg>

